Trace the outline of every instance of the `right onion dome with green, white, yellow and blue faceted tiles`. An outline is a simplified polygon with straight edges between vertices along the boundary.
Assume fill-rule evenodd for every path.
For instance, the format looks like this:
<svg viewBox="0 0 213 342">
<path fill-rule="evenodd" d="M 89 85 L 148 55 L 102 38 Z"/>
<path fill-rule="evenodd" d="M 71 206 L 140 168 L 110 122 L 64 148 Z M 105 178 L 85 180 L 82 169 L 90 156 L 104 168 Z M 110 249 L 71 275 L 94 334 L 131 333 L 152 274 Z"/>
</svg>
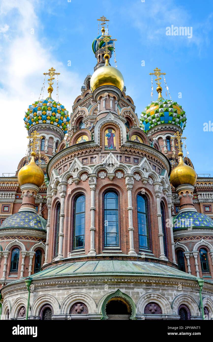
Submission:
<svg viewBox="0 0 213 342">
<path fill-rule="evenodd" d="M 160 97 L 144 109 L 140 121 L 144 132 L 164 123 L 175 124 L 183 131 L 186 126 L 186 115 L 182 106 L 177 102 Z"/>
</svg>

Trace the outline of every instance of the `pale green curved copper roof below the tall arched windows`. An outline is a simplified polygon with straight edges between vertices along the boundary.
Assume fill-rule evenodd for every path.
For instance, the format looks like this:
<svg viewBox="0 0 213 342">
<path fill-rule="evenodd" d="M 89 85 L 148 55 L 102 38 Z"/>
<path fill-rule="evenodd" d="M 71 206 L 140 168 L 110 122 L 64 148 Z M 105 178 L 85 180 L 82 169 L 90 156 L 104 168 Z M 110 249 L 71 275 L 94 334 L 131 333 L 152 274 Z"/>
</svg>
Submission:
<svg viewBox="0 0 213 342">
<path fill-rule="evenodd" d="M 93 260 L 63 263 L 35 273 L 30 276 L 30 278 L 32 280 L 36 280 L 42 278 L 80 275 L 163 276 L 197 280 L 195 276 L 179 271 L 177 268 L 154 262 L 129 260 Z"/>
</svg>

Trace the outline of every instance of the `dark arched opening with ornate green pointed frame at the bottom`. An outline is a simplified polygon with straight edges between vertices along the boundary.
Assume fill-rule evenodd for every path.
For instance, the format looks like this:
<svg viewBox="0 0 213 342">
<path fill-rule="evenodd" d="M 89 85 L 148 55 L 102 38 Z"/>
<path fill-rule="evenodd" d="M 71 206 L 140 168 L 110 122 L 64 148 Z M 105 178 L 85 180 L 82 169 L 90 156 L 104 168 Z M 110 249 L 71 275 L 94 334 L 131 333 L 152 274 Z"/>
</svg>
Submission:
<svg viewBox="0 0 213 342">
<path fill-rule="evenodd" d="M 135 315 L 135 303 L 120 290 L 108 295 L 102 305 L 101 319 L 136 319 Z"/>
</svg>

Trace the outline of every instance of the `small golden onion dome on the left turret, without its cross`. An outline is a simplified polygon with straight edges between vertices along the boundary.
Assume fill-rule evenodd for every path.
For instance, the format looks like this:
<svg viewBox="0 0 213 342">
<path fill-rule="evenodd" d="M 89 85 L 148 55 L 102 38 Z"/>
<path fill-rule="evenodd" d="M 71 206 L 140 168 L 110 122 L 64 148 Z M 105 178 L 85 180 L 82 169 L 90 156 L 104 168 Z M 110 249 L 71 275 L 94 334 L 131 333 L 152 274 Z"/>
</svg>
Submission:
<svg viewBox="0 0 213 342">
<path fill-rule="evenodd" d="M 23 184 L 34 184 L 40 187 L 44 182 L 44 173 L 41 168 L 36 165 L 35 157 L 36 153 L 34 151 L 31 152 L 31 160 L 29 164 L 23 166 L 18 171 L 18 183 L 19 185 Z"/>
</svg>

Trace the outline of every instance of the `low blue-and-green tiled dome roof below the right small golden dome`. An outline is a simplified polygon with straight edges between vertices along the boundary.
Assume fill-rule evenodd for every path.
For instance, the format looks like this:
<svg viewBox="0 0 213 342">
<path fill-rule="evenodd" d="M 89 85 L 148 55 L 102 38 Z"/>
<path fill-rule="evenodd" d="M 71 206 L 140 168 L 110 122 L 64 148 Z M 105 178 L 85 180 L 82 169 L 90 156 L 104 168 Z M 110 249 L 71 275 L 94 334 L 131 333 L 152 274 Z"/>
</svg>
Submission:
<svg viewBox="0 0 213 342">
<path fill-rule="evenodd" d="M 174 223 L 174 229 L 189 227 L 213 229 L 213 220 L 209 216 L 196 211 L 185 211 L 178 214 Z"/>
</svg>

